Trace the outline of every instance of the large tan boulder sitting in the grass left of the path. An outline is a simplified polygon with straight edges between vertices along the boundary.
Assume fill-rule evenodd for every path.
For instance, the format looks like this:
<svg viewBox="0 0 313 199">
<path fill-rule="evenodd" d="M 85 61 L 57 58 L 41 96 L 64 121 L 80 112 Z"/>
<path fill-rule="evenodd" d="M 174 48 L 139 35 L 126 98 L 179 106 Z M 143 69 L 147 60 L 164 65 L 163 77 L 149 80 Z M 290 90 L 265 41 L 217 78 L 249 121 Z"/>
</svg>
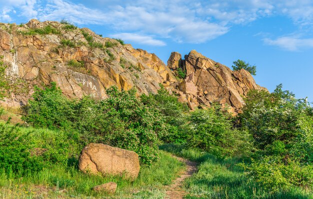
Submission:
<svg viewBox="0 0 313 199">
<path fill-rule="evenodd" d="M 78 167 L 85 173 L 125 174 L 131 179 L 137 178 L 140 169 L 135 152 L 94 143 L 88 144 L 82 150 Z"/>
</svg>

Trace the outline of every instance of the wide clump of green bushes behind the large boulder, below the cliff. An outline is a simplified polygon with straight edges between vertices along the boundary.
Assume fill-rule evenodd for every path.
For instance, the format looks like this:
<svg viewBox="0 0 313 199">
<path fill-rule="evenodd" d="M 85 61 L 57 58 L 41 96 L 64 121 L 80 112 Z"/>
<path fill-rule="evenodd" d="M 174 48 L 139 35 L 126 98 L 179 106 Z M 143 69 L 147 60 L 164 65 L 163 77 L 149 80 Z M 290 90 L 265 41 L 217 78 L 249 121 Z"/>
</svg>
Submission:
<svg viewBox="0 0 313 199">
<path fill-rule="evenodd" d="M 100 142 L 134 151 L 141 164 L 158 159 L 159 138 L 164 136 L 162 115 L 141 103 L 135 90 L 106 90 L 108 98 L 91 97 L 69 100 L 52 83 L 50 88 L 36 88 L 33 100 L 25 108 L 23 120 L 35 127 L 77 130 L 85 143 Z"/>
</svg>

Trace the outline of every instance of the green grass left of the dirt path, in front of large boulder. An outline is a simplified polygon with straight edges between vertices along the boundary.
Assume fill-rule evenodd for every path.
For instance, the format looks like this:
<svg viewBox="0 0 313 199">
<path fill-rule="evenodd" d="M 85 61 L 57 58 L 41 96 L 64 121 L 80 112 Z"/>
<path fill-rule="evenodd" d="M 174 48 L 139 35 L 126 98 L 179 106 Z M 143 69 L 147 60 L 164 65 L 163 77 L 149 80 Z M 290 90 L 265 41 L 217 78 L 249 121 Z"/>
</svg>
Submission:
<svg viewBox="0 0 313 199">
<path fill-rule="evenodd" d="M 29 174 L 22 178 L 8 176 L 3 171 L 0 172 L 0 198 L 6 198 L 8 190 L 17 193 L 33 190 L 35 187 L 44 187 L 53 196 L 74 197 L 74 198 L 102 198 L 108 197 L 105 194 L 95 193 L 91 188 L 107 182 L 115 182 L 117 191 L 114 198 L 129 199 L 156 199 L 164 197 L 164 187 L 169 185 L 176 178 L 177 173 L 183 168 L 183 164 L 172 158 L 168 153 L 161 152 L 160 160 L 152 167 L 142 167 L 138 178 L 134 182 L 127 181 L 122 177 L 113 176 L 89 176 L 79 172 L 75 167 L 64 167 L 54 165 L 45 168 L 34 174 Z M 14 189 L 16 189 L 14 191 Z M 61 192 L 60 192 L 61 191 Z M 47 192 L 41 193 L 42 195 Z M 60 192 L 60 193 L 59 193 Z M 4 195 L 6 193 L 6 195 Z M 23 195 L 35 198 L 39 192 L 28 192 Z"/>
</svg>

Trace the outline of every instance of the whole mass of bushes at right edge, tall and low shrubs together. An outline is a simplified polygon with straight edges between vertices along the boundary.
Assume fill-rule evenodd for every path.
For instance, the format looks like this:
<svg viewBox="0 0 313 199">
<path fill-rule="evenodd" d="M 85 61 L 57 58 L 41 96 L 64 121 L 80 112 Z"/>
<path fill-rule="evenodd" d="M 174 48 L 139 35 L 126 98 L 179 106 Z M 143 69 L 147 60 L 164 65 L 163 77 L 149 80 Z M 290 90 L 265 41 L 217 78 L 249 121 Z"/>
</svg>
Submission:
<svg viewBox="0 0 313 199">
<path fill-rule="evenodd" d="M 306 99 L 295 99 L 281 84 L 273 93 L 250 91 L 240 115 L 242 129 L 254 140 L 247 175 L 270 191 L 292 186 L 311 189 L 313 117 Z"/>
</svg>

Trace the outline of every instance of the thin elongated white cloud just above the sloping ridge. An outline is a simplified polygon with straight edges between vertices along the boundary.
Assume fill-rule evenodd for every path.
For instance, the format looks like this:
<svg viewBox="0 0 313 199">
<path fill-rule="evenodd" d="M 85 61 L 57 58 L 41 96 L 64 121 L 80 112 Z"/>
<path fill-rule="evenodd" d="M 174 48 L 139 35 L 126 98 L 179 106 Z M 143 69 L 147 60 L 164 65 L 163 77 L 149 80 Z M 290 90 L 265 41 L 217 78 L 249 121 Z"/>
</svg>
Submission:
<svg viewBox="0 0 313 199">
<path fill-rule="evenodd" d="M 110 35 L 113 38 L 122 38 L 127 41 L 133 41 L 136 43 L 146 44 L 146 45 L 155 45 L 155 46 L 164 46 L 165 42 L 152 38 L 151 36 L 140 35 L 136 33 L 118 33 Z"/>
</svg>

